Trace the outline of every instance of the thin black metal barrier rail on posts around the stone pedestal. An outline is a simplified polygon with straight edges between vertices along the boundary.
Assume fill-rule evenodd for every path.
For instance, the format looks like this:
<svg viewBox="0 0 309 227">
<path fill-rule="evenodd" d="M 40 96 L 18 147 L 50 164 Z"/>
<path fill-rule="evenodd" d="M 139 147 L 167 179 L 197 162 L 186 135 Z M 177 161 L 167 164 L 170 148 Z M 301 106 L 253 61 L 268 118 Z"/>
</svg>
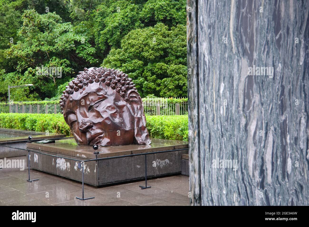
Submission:
<svg viewBox="0 0 309 227">
<path fill-rule="evenodd" d="M 31 137 L 31 136 L 29 136 Z M 28 143 L 31 143 L 32 140 L 29 139 L 28 137 L 28 140 L 27 142 Z M 73 138 L 73 137 L 63 137 L 63 138 Z M 61 138 L 51 138 L 51 139 L 61 139 Z M 42 140 L 42 139 L 40 139 Z M 16 141 L 15 141 L 16 142 Z M 5 142 L 4 142 L 5 143 Z M 0 143 L 0 146 L 4 146 L 4 147 L 9 147 L 9 148 L 14 148 L 14 149 L 20 149 L 20 150 L 26 150 L 28 151 L 28 182 L 33 182 L 33 181 L 36 181 L 36 180 L 39 180 L 39 179 L 33 179 L 33 180 L 30 180 L 30 150 L 28 149 L 22 149 L 22 148 L 15 148 L 15 147 L 10 147 L 10 146 L 6 146 L 6 145 L 3 145 Z M 107 158 L 97 158 L 97 155 L 99 153 L 103 153 L 103 152 L 96 152 L 96 150 L 98 149 L 98 145 L 93 145 L 93 149 L 95 150 L 94 154 L 95 154 L 95 159 L 89 159 L 89 160 L 84 160 L 84 161 L 81 161 L 81 160 L 78 160 L 78 159 L 74 159 L 74 158 L 66 158 L 66 159 L 69 159 L 69 160 L 73 160 L 73 161 L 77 161 L 77 162 L 80 162 L 81 163 L 81 168 L 82 168 L 82 198 L 79 198 L 79 197 L 76 197 L 76 199 L 78 200 L 90 200 L 90 199 L 94 199 L 95 197 L 89 197 L 89 198 L 84 198 L 84 163 L 85 162 L 90 162 L 90 161 L 100 161 L 100 160 L 107 160 L 107 159 L 116 159 L 116 158 L 125 158 L 125 157 L 133 157 L 133 156 L 141 156 L 141 155 L 145 155 L 145 186 L 142 186 L 140 185 L 139 187 L 141 187 L 141 189 L 146 189 L 146 188 L 150 188 L 151 186 L 147 186 L 147 155 L 148 154 L 157 154 L 157 153 L 167 153 L 167 152 L 172 152 L 172 151 L 181 151 L 181 150 L 188 150 L 188 148 L 184 148 L 184 149 L 174 149 L 174 150 L 165 150 L 165 151 L 154 151 L 154 152 L 147 152 L 147 153 L 139 153 L 139 154 L 128 154 L 128 155 L 123 155 L 123 156 L 115 156 L 115 157 L 107 157 Z M 42 152 L 38 152 L 38 151 L 33 151 L 32 152 L 34 153 L 39 153 L 39 154 L 44 154 L 44 155 L 48 155 L 48 156 L 52 156 L 52 157 L 56 157 L 56 158 L 63 158 L 61 156 L 57 156 L 57 155 L 53 155 L 53 154 L 46 154 L 46 153 L 42 153 Z M 0 168 L 1 169 L 1 168 Z"/>
</svg>

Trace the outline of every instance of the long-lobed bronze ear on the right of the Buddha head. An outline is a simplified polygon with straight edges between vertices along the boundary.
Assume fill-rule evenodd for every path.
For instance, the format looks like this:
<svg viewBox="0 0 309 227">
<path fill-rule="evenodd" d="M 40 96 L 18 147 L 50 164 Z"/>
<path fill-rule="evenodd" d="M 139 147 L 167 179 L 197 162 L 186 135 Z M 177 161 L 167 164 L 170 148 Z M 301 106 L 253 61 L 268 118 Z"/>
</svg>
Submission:
<svg viewBox="0 0 309 227">
<path fill-rule="evenodd" d="M 125 99 L 134 116 L 134 135 L 137 144 L 150 144 L 149 133 L 146 128 L 146 117 L 142 98 L 136 90 L 128 90 Z"/>
</svg>

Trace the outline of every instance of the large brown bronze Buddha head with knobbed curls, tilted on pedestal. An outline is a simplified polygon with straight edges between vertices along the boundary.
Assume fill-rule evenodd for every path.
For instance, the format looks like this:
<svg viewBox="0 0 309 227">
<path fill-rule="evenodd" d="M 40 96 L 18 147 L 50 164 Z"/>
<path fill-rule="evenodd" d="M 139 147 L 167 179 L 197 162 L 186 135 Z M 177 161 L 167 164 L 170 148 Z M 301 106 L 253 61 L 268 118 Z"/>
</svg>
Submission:
<svg viewBox="0 0 309 227">
<path fill-rule="evenodd" d="M 85 68 L 60 99 L 64 119 L 79 145 L 151 143 L 142 98 L 123 72 Z"/>
</svg>

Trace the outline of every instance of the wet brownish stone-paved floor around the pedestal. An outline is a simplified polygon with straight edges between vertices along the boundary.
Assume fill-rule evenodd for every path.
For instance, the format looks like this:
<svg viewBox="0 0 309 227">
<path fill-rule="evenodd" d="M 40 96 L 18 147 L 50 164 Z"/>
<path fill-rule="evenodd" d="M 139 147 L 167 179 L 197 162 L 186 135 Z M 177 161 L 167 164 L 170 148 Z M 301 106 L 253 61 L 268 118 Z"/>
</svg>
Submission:
<svg viewBox="0 0 309 227">
<path fill-rule="evenodd" d="M 8 158 L 7 158 L 8 159 Z M 26 156 L 15 157 L 24 159 Z M 186 206 L 189 205 L 189 177 L 176 175 L 147 180 L 151 188 L 141 189 L 145 181 L 124 183 L 107 187 L 84 185 L 53 174 L 30 169 L 30 178 L 40 180 L 27 182 L 28 167 L 25 170 L 0 169 L 0 206 Z"/>
</svg>

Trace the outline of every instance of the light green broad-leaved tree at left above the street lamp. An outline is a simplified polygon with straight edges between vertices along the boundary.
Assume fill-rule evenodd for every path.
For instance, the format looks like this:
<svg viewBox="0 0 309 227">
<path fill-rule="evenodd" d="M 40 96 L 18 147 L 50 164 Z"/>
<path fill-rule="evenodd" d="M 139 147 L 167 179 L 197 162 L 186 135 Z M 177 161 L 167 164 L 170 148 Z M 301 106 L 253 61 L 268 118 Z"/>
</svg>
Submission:
<svg viewBox="0 0 309 227">
<path fill-rule="evenodd" d="M 35 10 L 26 10 L 22 19 L 19 41 L 6 50 L 6 57 L 17 59 L 16 71 L 31 77 L 42 87 L 41 91 L 54 95 L 56 79 L 72 77 L 74 71 L 67 58 L 74 56 L 89 63 L 97 61 L 92 57 L 95 49 L 87 42 L 88 37 L 76 33 L 70 22 L 62 23 L 56 13 L 38 14 Z M 42 71 L 45 67 L 61 68 L 61 75 Z"/>
</svg>

